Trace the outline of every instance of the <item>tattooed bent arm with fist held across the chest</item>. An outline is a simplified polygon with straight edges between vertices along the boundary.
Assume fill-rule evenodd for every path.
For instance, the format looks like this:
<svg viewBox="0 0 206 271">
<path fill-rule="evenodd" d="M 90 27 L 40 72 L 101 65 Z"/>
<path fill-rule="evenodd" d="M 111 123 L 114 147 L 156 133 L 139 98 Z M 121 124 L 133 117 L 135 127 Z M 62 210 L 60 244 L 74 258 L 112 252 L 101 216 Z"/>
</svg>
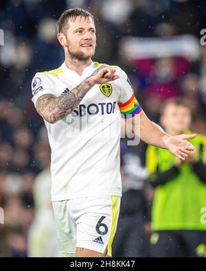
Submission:
<svg viewBox="0 0 206 271">
<path fill-rule="evenodd" d="M 87 92 L 95 84 L 104 84 L 119 78 L 114 75 L 115 70 L 104 64 L 96 69 L 88 78 L 85 78 L 81 84 L 71 89 L 69 93 L 56 97 L 53 94 L 41 95 L 36 101 L 36 110 L 38 114 L 49 123 L 55 123 L 73 112 L 80 104 Z"/>
</svg>

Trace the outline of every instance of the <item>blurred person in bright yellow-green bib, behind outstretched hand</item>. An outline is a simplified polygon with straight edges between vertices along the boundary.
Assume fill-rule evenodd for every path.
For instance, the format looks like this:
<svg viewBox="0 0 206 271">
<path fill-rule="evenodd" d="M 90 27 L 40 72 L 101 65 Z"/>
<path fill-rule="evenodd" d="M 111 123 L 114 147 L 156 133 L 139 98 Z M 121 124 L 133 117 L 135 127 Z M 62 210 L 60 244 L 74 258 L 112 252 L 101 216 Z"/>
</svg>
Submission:
<svg viewBox="0 0 206 271">
<path fill-rule="evenodd" d="M 169 134 L 190 133 L 191 120 L 182 99 L 163 106 L 161 124 Z M 155 188 L 152 257 L 206 257 L 206 137 L 190 141 L 195 150 L 185 161 L 152 145 L 146 151 L 148 182 Z"/>
</svg>

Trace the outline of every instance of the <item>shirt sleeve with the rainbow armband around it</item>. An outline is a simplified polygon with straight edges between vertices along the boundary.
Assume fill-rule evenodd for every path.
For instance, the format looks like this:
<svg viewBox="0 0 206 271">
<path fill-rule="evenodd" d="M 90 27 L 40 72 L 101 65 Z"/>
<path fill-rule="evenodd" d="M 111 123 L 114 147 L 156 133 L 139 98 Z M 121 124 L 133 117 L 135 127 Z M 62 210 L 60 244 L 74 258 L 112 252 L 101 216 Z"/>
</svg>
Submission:
<svg viewBox="0 0 206 271">
<path fill-rule="evenodd" d="M 119 109 L 124 117 L 135 117 L 135 115 L 141 112 L 141 106 L 137 101 L 133 86 L 126 75 L 126 73 L 118 67 L 119 70 L 119 82 L 120 82 L 120 97 L 119 97 Z"/>
</svg>

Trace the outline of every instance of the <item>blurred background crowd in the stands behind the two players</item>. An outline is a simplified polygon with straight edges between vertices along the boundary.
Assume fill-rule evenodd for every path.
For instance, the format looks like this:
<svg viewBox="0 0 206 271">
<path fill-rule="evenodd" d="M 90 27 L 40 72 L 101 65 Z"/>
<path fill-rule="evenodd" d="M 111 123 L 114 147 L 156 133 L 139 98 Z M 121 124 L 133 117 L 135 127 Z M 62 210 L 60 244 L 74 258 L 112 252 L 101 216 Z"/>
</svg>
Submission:
<svg viewBox="0 0 206 271">
<path fill-rule="evenodd" d="M 94 61 L 119 65 L 129 75 L 146 114 L 183 97 L 192 110 L 191 130 L 206 135 L 205 1 L 174 0 L 1 0 L 0 28 L 0 257 L 58 257 L 49 201 L 50 149 L 43 119 L 31 102 L 37 71 L 64 60 L 56 21 L 67 8 L 89 10 L 96 20 Z M 114 256 L 150 257 L 150 209 L 146 144 L 123 139 L 124 196 Z"/>
</svg>

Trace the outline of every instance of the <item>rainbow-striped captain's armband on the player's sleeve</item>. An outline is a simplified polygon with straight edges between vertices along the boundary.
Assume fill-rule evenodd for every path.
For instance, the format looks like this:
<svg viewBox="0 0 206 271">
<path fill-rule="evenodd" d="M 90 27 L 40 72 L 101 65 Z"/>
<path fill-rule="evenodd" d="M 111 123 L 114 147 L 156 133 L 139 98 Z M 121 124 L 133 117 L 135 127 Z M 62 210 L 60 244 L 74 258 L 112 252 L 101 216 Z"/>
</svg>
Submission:
<svg viewBox="0 0 206 271">
<path fill-rule="evenodd" d="M 121 102 L 119 102 L 118 104 L 119 109 L 124 115 L 124 117 L 135 117 L 135 115 L 141 112 L 141 106 L 139 105 L 139 102 L 137 102 L 134 94 L 124 104 L 122 104 Z"/>
</svg>

